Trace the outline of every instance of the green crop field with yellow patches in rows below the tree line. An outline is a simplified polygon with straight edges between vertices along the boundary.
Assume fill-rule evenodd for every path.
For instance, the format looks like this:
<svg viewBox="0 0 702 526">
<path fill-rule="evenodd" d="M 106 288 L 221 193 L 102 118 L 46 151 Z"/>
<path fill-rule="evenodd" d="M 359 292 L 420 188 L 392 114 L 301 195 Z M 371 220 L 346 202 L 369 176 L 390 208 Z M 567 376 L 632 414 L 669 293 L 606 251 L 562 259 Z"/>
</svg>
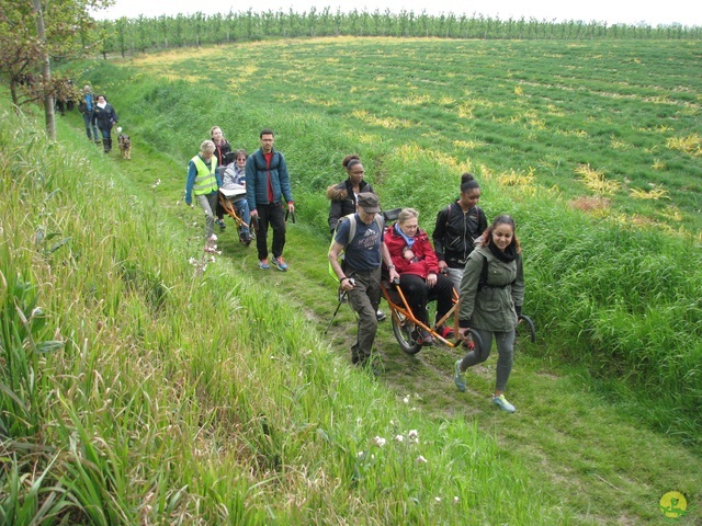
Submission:
<svg viewBox="0 0 702 526">
<path fill-rule="evenodd" d="M 245 105 L 340 118 L 369 145 L 405 145 L 483 178 L 555 187 L 599 216 L 676 231 L 682 222 L 697 235 L 699 53 L 693 42 L 342 38 L 136 64 L 168 78 L 207 78 Z M 310 191 L 326 184 L 306 182 Z"/>
</svg>

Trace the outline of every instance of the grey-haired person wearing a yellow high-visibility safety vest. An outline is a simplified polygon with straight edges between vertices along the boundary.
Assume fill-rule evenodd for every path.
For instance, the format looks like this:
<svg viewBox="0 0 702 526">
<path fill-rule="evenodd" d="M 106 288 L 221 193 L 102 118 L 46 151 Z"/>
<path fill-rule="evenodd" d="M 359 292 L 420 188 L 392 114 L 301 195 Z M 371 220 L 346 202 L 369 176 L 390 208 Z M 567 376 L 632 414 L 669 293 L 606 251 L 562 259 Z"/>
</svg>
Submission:
<svg viewBox="0 0 702 526">
<path fill-rule="evenodd" d="M 205 211 L 205 238 L 214 241 L 215 215 L 217 207 L 217 191 L 222 180 L 217 174 L 217 158 L 214 157 L 215 144 L 203 140 L 200 153 L 188 163 L 188 182 L 185 183 L 185 204 L 191 205 L 193 194 Z"/>
</svg>

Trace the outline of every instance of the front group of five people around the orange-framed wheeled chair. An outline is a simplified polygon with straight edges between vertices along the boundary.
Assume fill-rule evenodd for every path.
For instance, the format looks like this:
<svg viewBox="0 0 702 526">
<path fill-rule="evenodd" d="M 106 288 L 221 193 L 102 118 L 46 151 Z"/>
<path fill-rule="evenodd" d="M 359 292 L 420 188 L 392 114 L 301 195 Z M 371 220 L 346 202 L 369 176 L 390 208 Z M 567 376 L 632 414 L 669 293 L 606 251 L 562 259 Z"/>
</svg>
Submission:
<svg viewBox="0 0 702 526">
<path fill-rule="evenodd" d="M 419 213 L 414 208 L 403 208 L 394 225 L 385 225 L 377 195 L 363 181 L 358 156 L 346 158 L 343 165 L 348 179 L 327 188 L 331 199 L 328 222 L 333 236 L 328 258 L 358 315 L 351 362 L 378 374 L 372 363 L 372 348 L 385 266 L 387 278 L 399 285 L 412 313 L 424 325 L 429 325 L 428 301 L 437 300 L 435 319 L 441 320 L 458 294 L 458 338 L 467 344 L 467 330 L 473 329 L 483 345 L 471 345 L 465 357 L 455 362 L 454 382 L 465 391 L 466 370 L 488 358 L 495 340 L 499 357 L 492 403 L 514 412 L 505 389 L 512 368 L 524 277 L 513 219 L 500 215 L 488 227 L 485 213 L 477 206 L 480 187 L 472 174 L 465 173 L 460 198 L 437 216 L 432 247 L 428 233 L 419 228 Z M 448 325 L 435 327 L 435 331 L 444 339 L 455 338 Z M 433 339 L 422 330 L 417 342 L 430 346 Z"/>
</svg>

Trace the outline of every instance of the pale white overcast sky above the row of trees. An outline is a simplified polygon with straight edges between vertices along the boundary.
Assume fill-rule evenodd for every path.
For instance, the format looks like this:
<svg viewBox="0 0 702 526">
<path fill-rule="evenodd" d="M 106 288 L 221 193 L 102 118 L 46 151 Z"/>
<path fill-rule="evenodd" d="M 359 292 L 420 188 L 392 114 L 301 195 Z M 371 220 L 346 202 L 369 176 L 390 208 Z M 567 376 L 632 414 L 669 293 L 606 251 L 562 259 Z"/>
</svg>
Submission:
<svg viewBox="0 0 702 526">
<path fill-rule="evenodd" d="M 229 0 L 215 0 L 201 4 L 193 0 L 116 0 L 115 4 L 104 11 L 95 13 L 98 19 L 118 19 L 121 16 L 136 18 L 139 14 L 145 16 L 159 16 L 161 14 L 176 15 L 178 13 L 192 14 L 197 11 L 204 13 L 222 12 L 246 12 L 283 10 L 291 9 L 296 13 L 309 11 L 315 7 L 321 11 L 326 7 L 342 12 L 359 11 L 373 12 L 376 9 L 381 12 L 389 9 L 393 13 L 401 10 L 414 11 L 420 14 L 426 11 L 428 14 L 466 14 L 485 15 L 507 20 L 513 19 L 536 19 L 546 21 L 568 21 L 581 20 L 584 22 L 607 22 L 608 24 L 639 24 L 645 23 L 652 26 L 658 24 L 670 25 L 679 23 L 687 26 L 702 26 L 702 1 L 700 0 L 443 0 L 439 2 L 428 2 L 427 0 L 269 0 L 251 2 L 231 2 Z"/>
</svg>

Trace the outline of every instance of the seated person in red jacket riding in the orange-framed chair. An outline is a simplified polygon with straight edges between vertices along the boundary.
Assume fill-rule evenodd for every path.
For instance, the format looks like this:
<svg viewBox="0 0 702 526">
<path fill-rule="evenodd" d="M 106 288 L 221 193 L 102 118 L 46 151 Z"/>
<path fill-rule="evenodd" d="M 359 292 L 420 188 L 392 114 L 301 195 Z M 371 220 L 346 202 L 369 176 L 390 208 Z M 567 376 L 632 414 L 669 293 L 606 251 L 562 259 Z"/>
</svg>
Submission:
<svg viewBox="0 0 702 526">
<path fill-rule="evenodd" d="M 439 273 L 439 260 L 429 236 L 419 228 L 419 213 L 414 208 L 403 208 L 397 222 L 387 227 L 385 244 L 399 274 L 399 286 L 407 298 L 415 317 L 429 324 L 427 302 L 437 300 L 437 319 L 441 319 L 453 306 L 453 282 Z M 451 338 L 448 327 L 437 328 L 443 338 Z M 429 346 L 433 339 L 422 330 L 418 339 Z"/>
</svg>

